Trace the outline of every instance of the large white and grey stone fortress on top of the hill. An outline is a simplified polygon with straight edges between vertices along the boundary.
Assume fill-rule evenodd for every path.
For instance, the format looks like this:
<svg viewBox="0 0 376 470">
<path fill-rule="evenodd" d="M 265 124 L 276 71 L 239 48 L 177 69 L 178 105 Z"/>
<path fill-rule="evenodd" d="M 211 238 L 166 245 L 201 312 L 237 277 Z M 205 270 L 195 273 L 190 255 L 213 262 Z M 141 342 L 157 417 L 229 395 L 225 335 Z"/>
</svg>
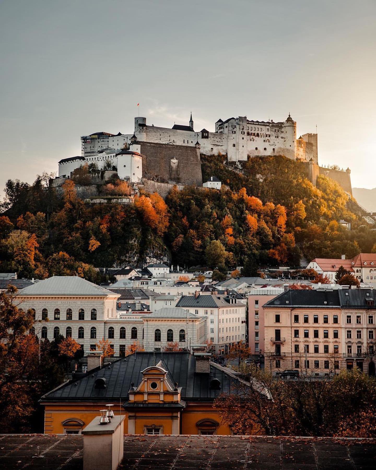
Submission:
<svg viewBox="0 0 376 470">
<path fill-rule="evenodd" d="M 162 183 L 202 185 L 200 154 L 224 155 L 228 162 L 243 162 L 256 156 L 284 155 L 307 163 L 308 178 L 315 184 L 318 174 L 328 169 L 318 166 L 317 134 L 296 138 L 296 121 L 290 114 L 274 122 L 229 118 L 215 123 L 215 132 L 195 131 L 192 113 L 188 125 L 172 128 L 148 125 L 146 118 L 134 118 L 133 134 L 97 132 L 81 137 L 81 155 L 59 162 L 59 177 L 70 177 L 80 165 L 104 165 L 116 169 L 121 179 L 133 183 L 153 180 Z M 330 170 L 351 194 L 350 170 Z M 343 174 L 345 173 L 345 174 Z M 345 183 L 344 183 L 345 180 Z"/>
</svg>

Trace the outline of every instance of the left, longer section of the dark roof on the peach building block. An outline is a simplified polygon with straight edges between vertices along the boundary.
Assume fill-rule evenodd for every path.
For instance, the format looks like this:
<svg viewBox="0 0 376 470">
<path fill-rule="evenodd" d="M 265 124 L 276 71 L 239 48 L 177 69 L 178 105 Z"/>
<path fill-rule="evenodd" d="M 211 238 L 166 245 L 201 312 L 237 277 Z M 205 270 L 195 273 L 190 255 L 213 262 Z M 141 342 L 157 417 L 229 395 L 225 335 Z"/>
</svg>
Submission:
<svg viewBox="0 0 376 470">
<path fill-rule="evenodd" d="M 269 302 L 264 307 L 329 307 L 340 308 L 338 290 L 286 290 Z"/>
</svg>

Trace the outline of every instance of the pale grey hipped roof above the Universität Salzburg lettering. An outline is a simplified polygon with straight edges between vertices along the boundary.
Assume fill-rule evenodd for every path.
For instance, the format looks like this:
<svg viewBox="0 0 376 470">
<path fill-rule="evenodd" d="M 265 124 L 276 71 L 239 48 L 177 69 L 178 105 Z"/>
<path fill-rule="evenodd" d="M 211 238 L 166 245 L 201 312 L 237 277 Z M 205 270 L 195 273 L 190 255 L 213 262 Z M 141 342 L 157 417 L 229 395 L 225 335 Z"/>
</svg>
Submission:
<svg viewBox="0 0 376 470">
<path fill-rule="evenodd" d="M 78 276 L 53 276 L 44 281 L 32 284 L 29 287 L 25 287 L 19 295 L 108 296 L 113 295 L 113 292 Z"/>
</svg>

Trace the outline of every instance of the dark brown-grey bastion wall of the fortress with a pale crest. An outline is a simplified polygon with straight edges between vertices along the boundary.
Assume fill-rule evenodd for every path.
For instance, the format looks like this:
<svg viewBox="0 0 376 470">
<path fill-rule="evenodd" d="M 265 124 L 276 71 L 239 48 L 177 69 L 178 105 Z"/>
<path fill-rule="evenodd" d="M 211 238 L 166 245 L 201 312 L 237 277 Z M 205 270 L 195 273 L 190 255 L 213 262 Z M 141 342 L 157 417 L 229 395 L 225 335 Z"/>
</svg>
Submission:
<svg viewBox="0 0 376 470">
<path fill-rule="evenodd" d="M 202 185 L 200 149 L 183 145 L 138 142 L 142 177 L 168 183 Z"/>
</svg>

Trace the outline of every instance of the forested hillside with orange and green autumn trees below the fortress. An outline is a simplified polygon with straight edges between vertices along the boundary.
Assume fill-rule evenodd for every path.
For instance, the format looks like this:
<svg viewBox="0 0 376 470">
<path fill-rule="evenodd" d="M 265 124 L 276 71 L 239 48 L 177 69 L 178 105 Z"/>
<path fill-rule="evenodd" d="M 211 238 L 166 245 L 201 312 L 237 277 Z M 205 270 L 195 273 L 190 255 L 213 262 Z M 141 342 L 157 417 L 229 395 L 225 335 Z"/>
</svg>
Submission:
<svg viewBox="0 0 376 470">
<path fill-rule="evenodd" d="M 173 189 L 165 201 L 141 194 L 131 205 L 89 206 L 73 180 L 62 196 L 43 176 L 30 186 L 9 180 L 0 216 L 0 271 L 39 278 L 77 273 L 95 281 L 93 266 L 154 258 L 222 270 L 245 265 L 251 274 L 260 264 L 298 266 L 302 256 L 375 251 L 376 231 L 349 210 L 333 180 L 320 176 L 316 188 L 302 164 L 284 157 L 251 158 L 241 169 L 224 160 L 202 158 L 204 180 L 219 177 L 220 191 Z M 124 182 L 114 182 L 102 192 L 123 190 Z M 351 231 L 338 224 L 341 219 L 351 222 Z"/>
</svg>

